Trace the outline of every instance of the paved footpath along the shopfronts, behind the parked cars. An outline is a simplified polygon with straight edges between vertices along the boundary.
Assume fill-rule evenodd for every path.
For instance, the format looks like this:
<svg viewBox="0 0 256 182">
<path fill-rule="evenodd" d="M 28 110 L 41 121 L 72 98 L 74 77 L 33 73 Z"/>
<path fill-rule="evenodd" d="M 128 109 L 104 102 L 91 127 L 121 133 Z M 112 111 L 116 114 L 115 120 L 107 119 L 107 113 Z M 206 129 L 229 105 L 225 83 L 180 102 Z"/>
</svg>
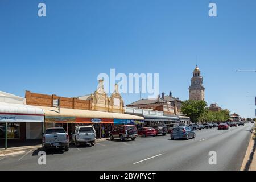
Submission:
<svg viewBox="0 0 256 182">
<path fill-rule="evenodd" d="M 109 138 L 98 138 L 96 139 L 96 142 L 102 142 L 102 141 L 106 141 Z M 29 149 L 36 149 L 36 148 L 41 148 L 42 144 L 27 144 L 26 146 L 20 146 L 20 147 L 10 147 L 7 148 L 7 150 L 5 150 L 5 148 L 0 148 L 0 156 L 5 156 L 6 154 L 10 154 L 10 153 L 14 153 L 16 154 L 19 151 L 23 151 L 23 150 L 29 150 Z"/>
</svg>

